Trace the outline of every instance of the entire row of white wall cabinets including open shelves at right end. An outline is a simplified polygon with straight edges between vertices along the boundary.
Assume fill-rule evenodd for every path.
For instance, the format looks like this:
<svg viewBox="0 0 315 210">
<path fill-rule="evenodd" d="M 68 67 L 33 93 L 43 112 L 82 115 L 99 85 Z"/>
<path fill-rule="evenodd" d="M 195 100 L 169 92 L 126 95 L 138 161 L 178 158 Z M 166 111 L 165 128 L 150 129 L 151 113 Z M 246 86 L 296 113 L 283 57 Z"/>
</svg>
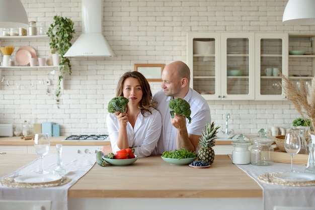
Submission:
<svg viewBox="0 0 315 210">
<path fill-rule="evenodd" d="M 297 86 L 315 73 L 313 34 L 188 33 L 191 87 L 207 100 L 286 100 L 280 70 Z M 303 55 L 289 55 L 303 50 Z M 230 70 L 241 75 L 230 76 Z M 268 71 L 268 73 L 267 73 Z"/>
</svg>

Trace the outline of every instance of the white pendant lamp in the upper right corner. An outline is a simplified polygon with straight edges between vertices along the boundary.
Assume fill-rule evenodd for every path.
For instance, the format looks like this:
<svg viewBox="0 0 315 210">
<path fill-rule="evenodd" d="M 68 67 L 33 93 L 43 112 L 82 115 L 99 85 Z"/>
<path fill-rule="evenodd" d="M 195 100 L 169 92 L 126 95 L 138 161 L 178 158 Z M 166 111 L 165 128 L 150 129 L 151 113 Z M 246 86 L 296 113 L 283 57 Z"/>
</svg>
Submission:
<svg viewBox="0 0 315 210">
<path fill-rule="evenodd" d="M 290 25 L 315 25 L 315 0 L 289 0 L 282 22 Z"/>
</svg>

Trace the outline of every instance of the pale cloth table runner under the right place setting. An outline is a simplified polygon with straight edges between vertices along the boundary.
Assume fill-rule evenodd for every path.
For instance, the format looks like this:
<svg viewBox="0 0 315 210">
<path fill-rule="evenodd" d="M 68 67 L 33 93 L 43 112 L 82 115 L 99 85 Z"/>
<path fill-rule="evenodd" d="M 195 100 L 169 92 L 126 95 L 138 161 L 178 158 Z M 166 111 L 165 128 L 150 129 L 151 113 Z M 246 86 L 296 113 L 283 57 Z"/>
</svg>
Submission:
<svg viewBox="0 0 315 210">
<path fill-rule="evenodd" d="M 231 158 L 231 155 L 229 154 Z M 272 210 L 275 205 L 280 206 L 313 206 L 315 209 L 315 186 L 281 186 L 268 184 L 258 180 L 261 174 L 285 172 L 291 170 L 291 164 L 274 163 L 271 166 L 237 165 L 251 176 L 263 188 L 264 209 Z M 294 164 L 295 171 L 304 172 L 306 166 Z"/>
</svg>

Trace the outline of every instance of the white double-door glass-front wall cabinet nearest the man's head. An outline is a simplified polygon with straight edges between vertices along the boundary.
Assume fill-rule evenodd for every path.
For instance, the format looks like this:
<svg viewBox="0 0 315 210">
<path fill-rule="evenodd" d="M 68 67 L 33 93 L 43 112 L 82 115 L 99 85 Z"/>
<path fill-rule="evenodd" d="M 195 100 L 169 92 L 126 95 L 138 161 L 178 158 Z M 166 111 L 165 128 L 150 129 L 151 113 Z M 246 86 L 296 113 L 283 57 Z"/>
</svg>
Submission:
<svg viewBox="0 0 315 210">
<path fill-rule="evenodd" d="M 254 39 L 254 33 L 188 33 L 191 87 L 209 100 L 254 99 Z"/>
</svg>

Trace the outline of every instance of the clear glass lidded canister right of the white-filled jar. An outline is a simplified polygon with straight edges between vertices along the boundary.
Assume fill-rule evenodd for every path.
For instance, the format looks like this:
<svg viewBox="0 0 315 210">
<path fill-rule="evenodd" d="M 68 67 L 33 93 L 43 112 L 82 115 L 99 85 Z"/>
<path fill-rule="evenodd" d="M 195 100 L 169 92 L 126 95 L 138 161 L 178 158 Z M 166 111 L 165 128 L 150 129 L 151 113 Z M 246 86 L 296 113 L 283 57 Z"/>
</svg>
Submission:
<svg viewBox="0 0 315 210">
<path fill-rule="evenodd" d="M 251 149 L 251 164 L 258 166 L 273 165 L 273 139 L 266 135 L 266 131 L 261 129 L 258 136 L 251 139 L 253 147 Z"/>
</svg>

